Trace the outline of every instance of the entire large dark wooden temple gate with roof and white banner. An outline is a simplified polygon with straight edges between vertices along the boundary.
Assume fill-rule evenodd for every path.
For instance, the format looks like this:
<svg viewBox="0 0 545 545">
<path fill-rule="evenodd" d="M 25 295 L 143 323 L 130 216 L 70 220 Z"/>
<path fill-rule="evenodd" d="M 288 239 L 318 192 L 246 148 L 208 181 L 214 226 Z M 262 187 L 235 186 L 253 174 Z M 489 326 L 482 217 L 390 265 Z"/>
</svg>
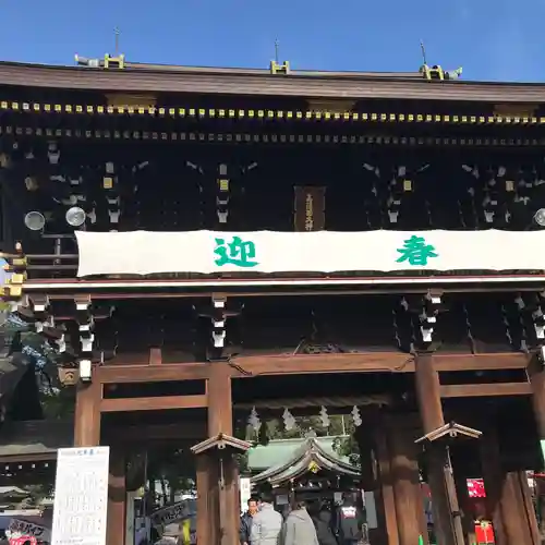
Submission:
<svg viewBox="0 0 545 545">
<path fill-rule="evenodd" d="M 372 545 L 427 543 L 422 480 L 472 544 L 481 475 L 537 545 L 545 88 L 96 64 L 0 63 L 2 294 L 111 447 L 108 545 L 135 445 L 191 439 L 198 544 L 234 545 L 233 422 L 324 404 L 361 411 Z"/>
</svg>

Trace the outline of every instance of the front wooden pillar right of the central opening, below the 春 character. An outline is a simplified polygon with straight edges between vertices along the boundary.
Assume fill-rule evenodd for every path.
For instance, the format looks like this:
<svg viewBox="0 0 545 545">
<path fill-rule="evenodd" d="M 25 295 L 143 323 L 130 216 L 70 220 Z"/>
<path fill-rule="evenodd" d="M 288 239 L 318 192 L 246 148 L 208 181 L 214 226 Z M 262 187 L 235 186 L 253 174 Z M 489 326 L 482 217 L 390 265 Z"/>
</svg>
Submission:
<svg viewBox="0 0 545 545">
<path fill-rule="evenodd" d="M 415 361 L 415 389 L 424 435 L 445 425 L 439 374 L 431 354 Z M 463 545 L 463 530 L 450 458 L 447 448 L 431 445 L 426 452 L 427 477 L 432 491 L 434 529 L 441 545 Z"/>
</svg>

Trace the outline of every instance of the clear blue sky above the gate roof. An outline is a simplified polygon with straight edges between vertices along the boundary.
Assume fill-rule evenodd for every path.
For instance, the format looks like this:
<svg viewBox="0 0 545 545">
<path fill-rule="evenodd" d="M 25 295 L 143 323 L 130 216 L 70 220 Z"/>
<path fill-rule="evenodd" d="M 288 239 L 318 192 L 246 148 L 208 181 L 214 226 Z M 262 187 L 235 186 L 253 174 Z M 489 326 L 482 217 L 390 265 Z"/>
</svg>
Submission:
<svg viewBox="0 0 545 545">
<path fill-rule="evenodd" d="M 0 59 L 267 66 L 274 43 L 295 69 L 463 66 L 465 80 L 545 81 L 544 0 L 1 0 Z"/>
</svg>

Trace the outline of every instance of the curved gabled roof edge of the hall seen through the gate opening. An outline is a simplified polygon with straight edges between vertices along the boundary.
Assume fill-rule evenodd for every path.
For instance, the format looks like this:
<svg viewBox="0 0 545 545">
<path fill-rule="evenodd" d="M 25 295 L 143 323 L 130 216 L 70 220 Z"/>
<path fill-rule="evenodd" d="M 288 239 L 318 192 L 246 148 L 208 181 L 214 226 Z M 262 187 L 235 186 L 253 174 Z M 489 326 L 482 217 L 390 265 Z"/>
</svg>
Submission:
<svg viewBox="0 0 545 545">
<path fill-rule="evenodd" d="M 314 437 L 308 437 L 290 460 L 262 471 L 252 477 L 252 482 L 269 482 L 272 485 L 278 485 L 308 472 L 312 463 L 316 463 L 320 469 L 349 475 L 354 479 L 360 476 L 358 469 L 332 457 L 322 448 Z"/>
</svg>

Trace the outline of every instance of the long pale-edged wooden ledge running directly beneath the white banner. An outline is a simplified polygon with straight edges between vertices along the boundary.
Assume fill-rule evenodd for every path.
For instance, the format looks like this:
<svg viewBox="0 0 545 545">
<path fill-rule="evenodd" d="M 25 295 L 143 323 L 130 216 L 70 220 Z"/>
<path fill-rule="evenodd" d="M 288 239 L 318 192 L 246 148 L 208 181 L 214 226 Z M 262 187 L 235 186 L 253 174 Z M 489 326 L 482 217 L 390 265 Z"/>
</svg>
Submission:
<svg viewBox="0 0 545 545">
<path fill-rule="evenodd" d="M 52 255 L 52 254 L 51 254 Z M 52 255 L 52 257 L 55 257 Z M 32 255 L 29 256 L 32 258 Z M 93 279 L 36 278 L 24 283 L 27 294 L 48 294 L 58 300 L 73 300 L 90 294 L 94 300 L 209 298 L 221 292 L 229 296 L 291 296 L 320 294 L 427 293 L 440 287 L 444 293 L 474 291 L 543 291 L 545 275 L 437 275 L 434 277 L 338 277 L 338 278 L 204 278 L 204 279 Z M 304 288 L 304 290 L 301 290 Z"/>
</svg>

